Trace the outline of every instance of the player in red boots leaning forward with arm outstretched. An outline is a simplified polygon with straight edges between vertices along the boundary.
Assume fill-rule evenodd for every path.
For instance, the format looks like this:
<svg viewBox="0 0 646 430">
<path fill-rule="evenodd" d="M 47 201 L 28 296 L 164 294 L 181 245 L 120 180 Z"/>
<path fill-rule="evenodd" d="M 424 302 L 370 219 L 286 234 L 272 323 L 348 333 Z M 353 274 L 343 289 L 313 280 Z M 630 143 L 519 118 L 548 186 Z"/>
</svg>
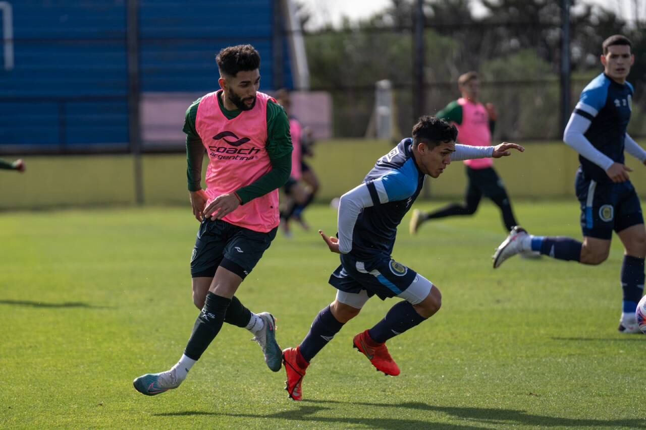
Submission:
<svg viewBox="0 0 646 430">
<path fill-rule="evenodd" d="M 497 147 L 455 145 L 457 129 L 443 119 L 424 116 L 413 127 L 412 138 L 377 160 L 364 183 L 344 194 L 339 205 L 339 238 L 319 230 L 329 250 L 341 254 L 341 265 L 329 277 L 337 297 L 318 312 L 304 340 L 283 351 L 287 393 L 302 399 L 302 380 L 312 358 L 357 316 L 371 296 L 401 298 L 377 325 L 354 337 L 354 346 L 385 374 L 397 376 L 399 367 L 386 341 L 427 320 L 439 311 L 442 296 L 421 274 L 393 260 L 397 225 L 415 202 L 426 175 L 439 177 L 451 161 L 500 158 L 515 143 Z"/>
</svg>

